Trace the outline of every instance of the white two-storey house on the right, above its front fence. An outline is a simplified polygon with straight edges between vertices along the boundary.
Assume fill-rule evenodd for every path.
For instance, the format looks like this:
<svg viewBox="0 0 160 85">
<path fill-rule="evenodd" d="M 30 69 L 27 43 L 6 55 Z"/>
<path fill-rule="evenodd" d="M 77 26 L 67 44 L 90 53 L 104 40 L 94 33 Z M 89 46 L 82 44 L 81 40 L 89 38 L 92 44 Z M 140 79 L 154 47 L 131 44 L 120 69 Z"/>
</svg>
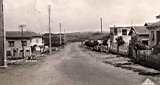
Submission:
<svg viewBox="0 0 160 85">
<path fill-rule="evenodd" d="M 118 36 L 122 36 L 125 44 L 129 45 L 131 40 L 131 35 L 128 35 L 131 28 L 133 28 L 138 35 L 139 40 L 143 43 L 148 45 L 149 41 L 149 31 L 146 29 L 145 26 L 119 26 L 119 27 L 110 27 L 110 33 L 113 33 L 113 43 L 116 43 L 116 38 Z"/>
</svg>

